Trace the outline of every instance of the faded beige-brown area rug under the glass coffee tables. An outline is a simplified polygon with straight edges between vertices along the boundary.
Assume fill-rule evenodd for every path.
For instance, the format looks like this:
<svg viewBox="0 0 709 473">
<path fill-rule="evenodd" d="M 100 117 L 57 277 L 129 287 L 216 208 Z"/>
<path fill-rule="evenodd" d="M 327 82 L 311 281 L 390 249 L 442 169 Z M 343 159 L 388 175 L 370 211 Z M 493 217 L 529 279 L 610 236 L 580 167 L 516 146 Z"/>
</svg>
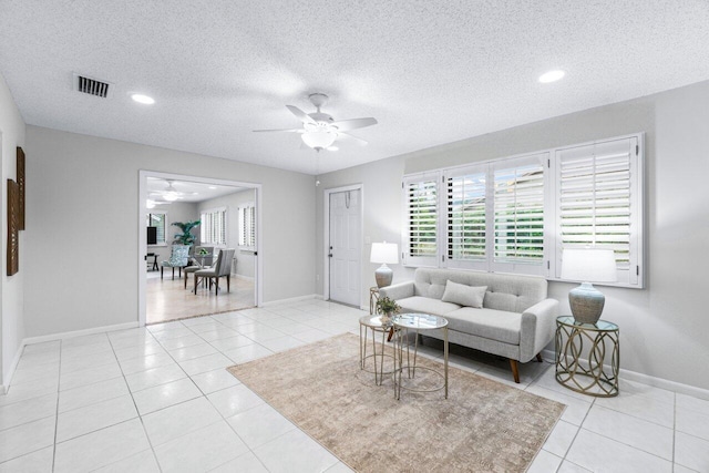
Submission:
<svg viewBox="0 0 709 473">
<path fill-rule="evenodd" d="M 403 391 L 397 401 L 390 376 L 376 385 L 360 370 L 351 333 L 228 370 L 359 472 L 523 472 L 565 408 L 453 367 L 449 399 Z"/>
</svg>

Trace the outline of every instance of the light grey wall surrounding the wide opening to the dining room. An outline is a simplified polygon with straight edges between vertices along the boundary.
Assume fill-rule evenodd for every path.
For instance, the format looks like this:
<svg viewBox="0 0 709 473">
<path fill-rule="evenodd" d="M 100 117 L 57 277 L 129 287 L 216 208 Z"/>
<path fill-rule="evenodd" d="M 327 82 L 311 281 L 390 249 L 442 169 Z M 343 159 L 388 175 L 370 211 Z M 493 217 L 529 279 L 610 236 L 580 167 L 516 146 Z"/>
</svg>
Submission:
<svg viewBox="0 0 709 473">
<path fill-rule="evenodd" d="M 138 169 L 263 184 L 264 301 L 314 294 L 312 176 L 37 126 L 27 134 L 27 337 L 137 321 Z M 110 225 L 75 237 L 105 215 Z"/>
</svg>

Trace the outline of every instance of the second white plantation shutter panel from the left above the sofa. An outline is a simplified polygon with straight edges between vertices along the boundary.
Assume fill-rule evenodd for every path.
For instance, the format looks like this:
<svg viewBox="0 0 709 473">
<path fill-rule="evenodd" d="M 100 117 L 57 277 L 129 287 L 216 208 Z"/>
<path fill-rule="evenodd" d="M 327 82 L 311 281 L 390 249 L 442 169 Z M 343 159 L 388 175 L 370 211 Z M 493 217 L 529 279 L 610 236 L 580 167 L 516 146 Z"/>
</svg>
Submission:
<svg viewBox="0 0 709 473">
<path fill-rule="evenodd" d="M 487 166 L 456 169 L 445 176 L 446 266 L 486 269 Z"/>
</svg>

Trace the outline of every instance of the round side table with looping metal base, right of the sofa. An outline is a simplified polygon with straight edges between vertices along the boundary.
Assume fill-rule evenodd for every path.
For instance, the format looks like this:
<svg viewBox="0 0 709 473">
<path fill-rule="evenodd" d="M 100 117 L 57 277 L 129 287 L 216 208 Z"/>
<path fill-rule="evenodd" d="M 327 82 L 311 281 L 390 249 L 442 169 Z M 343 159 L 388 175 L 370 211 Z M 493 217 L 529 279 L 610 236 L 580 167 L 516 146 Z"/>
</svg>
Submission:
<svg viewBox="0 0 709 473">
<path fill-rule="evenodd" d="M 618 395 L 620 330 L 606 320 L 580 323 L 572 316 L 556 319 L 556 381 L 597 398 Z"/>
</svg>

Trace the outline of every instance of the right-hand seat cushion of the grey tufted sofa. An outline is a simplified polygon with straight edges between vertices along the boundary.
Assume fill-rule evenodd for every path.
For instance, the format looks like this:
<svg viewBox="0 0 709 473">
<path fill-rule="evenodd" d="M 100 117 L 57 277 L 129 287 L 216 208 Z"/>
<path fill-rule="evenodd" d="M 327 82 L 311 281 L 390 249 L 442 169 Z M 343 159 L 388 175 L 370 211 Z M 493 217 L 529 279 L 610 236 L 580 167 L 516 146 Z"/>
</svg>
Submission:
<svg viewBox="0 0 709 473">
<path fill-rule="evenodd" d="M 522 315 L 496 309 L 463 307 L 442 313 L 450 330 L 474 333 L 479 337 L 520 345 Z"/>
</svg>

